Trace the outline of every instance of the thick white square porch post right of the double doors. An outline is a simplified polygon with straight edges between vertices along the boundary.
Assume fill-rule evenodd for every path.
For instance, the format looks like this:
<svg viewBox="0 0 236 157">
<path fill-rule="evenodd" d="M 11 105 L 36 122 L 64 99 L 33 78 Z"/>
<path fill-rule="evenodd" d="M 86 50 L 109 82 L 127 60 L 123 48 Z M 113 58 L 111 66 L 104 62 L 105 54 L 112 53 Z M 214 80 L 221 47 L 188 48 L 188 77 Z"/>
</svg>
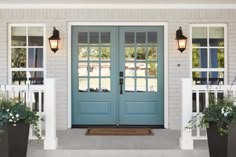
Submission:
<svg viewBox="0 0 236 157">
<path fill-rule="evenodd" d="M 182 79 L 181 90 L 181 137 L 179 140 L 181 149 L 193 149 L 192 129 L 186 129 L 192 118 L 192 79 Z"/>
</svg>

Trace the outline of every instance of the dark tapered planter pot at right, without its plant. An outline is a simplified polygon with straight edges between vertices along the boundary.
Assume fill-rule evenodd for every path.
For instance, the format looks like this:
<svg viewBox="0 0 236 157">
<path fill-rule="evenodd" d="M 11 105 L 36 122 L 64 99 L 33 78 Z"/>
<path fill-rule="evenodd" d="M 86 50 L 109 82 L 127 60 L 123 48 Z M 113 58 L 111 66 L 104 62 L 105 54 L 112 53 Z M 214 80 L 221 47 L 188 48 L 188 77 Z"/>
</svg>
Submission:
<svg viewBox="0 0 236 157">
<path fill-rule="evenodd" d="M 236 123 L 230 125 L 228 135 L 220 135 L 216 124 L 210 123 L 207 138 L 210 157 L 236 157 Z"/>
</svg>

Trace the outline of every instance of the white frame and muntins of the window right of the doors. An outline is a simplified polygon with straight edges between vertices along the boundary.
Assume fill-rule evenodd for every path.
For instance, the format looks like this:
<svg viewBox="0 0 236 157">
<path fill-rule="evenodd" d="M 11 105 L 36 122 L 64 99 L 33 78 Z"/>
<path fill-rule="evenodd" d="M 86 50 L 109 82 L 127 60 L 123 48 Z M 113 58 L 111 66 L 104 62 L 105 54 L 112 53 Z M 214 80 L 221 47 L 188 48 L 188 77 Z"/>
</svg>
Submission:
<svg viewBox="0 0 236 157">
<path fill-rule="evenodd" d="M 192 28 L 193 27 L 207 27 L 207 46 L 201 47 L 207 49 L 207 67 L 209 67 L 209 49 L 210 48 L 224 48 L 224 68 L 193 68 L 192 67 L 192 49 L 194 48 L 192 45 Z M 224 47 L 213 47 L 209 46 L 209 27 L 223 27 L 224 28 Z M 190 24 L 190 76 L 193 78 L 192 73 L 194 71 L 200 71 L 200 72 L 224 72 L 224 85 L 228 84 L 228 43 L 227 43 L 227 24 Z M 199 48 L 199 47 L 196 47 Z M 207 75 L 207 80 L 209 76 Z"/>
</svg>

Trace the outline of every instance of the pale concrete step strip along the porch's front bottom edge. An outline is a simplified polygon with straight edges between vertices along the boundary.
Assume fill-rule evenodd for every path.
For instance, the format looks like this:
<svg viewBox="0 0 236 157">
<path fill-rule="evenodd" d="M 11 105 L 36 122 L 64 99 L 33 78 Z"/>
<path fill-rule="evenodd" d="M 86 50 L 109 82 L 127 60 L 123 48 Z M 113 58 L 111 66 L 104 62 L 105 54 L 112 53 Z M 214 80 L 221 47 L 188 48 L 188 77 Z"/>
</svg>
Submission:
<svg viewBox="0 0 236 157">
<path fill-rule="evenodd" d="M 27 157 L 209 157 L 208 150 L 28 150 Z"/>
</svg>

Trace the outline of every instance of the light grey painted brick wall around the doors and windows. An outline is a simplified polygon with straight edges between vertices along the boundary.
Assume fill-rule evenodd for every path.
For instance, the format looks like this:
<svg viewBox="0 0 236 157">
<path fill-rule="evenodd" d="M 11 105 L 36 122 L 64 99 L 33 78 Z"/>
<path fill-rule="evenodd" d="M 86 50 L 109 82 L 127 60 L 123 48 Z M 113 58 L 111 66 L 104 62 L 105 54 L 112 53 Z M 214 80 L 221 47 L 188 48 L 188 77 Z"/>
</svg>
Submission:
<svg viewBox="0 0 236 157">
<path fill-rule="evenodd" d="M 190 76 L 189 47 L 176 50 L 175 32 L 182 26 L 189 37 L 189 24 L 226 23 L 228 27 L 229 82 L 236 74 L 236 10 L 198 9 L 0 9 L 0 84 L 7 83 L 8 23 L 46 24 L 47 37 L 53 26 L 60 31 L 61 49 L 54 54 L 47 45 L 47 77 L 57 79 L 57 127 L 67 127 L 67 25 L 68 22 L 168 22 L 169 127 L 180 128 L 181 82 Z M 189 46 L 189 45 L 188 45 Z M 181 66 L 178 67 L 177 64 Z"/>
</svg>

